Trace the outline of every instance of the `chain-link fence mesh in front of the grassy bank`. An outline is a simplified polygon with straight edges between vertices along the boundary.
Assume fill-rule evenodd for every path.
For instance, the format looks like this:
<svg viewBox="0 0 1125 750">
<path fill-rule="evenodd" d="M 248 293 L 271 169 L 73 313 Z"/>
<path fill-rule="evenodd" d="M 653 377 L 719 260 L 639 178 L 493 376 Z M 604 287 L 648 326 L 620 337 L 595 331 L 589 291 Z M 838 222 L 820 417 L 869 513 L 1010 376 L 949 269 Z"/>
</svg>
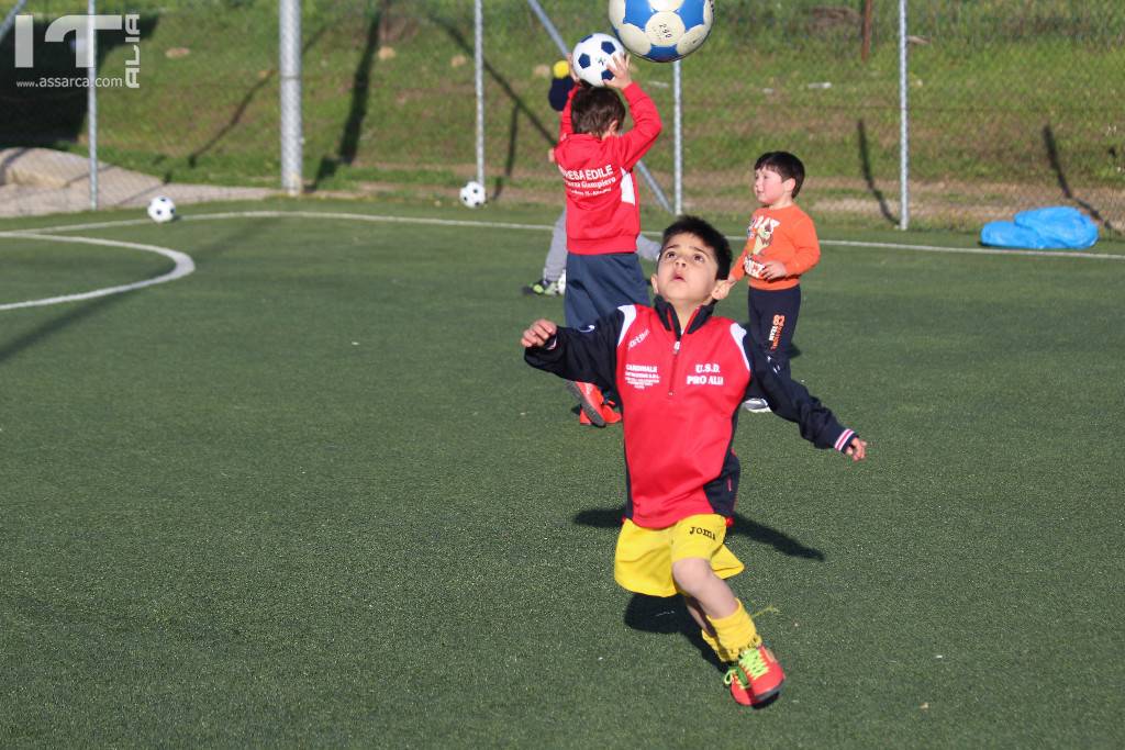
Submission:
<svg viewBox="0 0 1125 750">
<path fill-rule="evenodd" d="M 568 42 L 609 29 L 604 0 L 540 3 Z M 457 200 L 476 174 L 472 6 L 304 3 L 307 191 Z M 84 157 L 84 90 L 17 85 L 66 72 L 71 52 L 39 39 L 52 18 L 84 3 L 32 0 L 24 12 L 36 18 L 36 70 L 16 70 L 11 35 L 0 42 L 0 211 L 11 204 L 15 152 Z M 138 12 L 142 29 L 140 88 L 99 89 L 107 170 L 137 175 L 142 198 L 186 186 L 231 196 L 280 189 L 276 2 L 144 0 L 99 12 Z M 525 0 L 485 0 L 484 29 L 489 195 L 560 206 L 546 160 L 558 127 L 547 102 L 558 49 Z M 806 162 L 802 204 L 818 219 L 897 226 L 898 45 L 897 0 L 717 0 L 711 37 L 682 63 L 685 210 L 745 216 L 755 157 L 788 150 Z M 911 0 L 911 226 L 974 229 L 1025 208 L 1073 205 L 1119 233 L 1123 51 L 1118 0 Z M 124 38 L 99 35 L 102 74 L 132 55 Z M 645 161 L 670 196 L 672 66 L 638 61 L 636 79 L 665 116 L 666 135 Z M 61 182 L 75 179 L 66 172 Z"/>
</svg>

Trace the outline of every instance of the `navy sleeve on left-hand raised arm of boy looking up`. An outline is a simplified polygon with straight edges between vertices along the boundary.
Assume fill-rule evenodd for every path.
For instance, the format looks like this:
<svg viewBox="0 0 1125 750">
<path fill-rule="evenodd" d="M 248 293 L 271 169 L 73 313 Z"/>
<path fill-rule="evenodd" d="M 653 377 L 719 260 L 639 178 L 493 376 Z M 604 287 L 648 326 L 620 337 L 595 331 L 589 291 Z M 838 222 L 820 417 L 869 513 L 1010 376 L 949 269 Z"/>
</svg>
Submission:
<svg viewBox="0 0 1125 750">
<path fill-rule="evenodd" d="M 524 361 L 560 378 L 613 388 L 618 368 L 618 337 L 624 314 L 614 310 L 585 328 L 559 328 L 546 346 L 523 350 Z"/>
</svg>

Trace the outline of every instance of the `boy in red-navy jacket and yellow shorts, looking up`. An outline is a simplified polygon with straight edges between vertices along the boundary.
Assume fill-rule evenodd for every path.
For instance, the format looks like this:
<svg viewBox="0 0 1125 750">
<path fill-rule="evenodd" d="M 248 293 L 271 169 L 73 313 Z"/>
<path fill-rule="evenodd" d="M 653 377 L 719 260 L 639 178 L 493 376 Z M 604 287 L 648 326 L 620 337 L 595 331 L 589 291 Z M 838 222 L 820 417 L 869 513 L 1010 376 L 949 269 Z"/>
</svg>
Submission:
<svg viewBox="0 0 1125 750">
<path fill-rule="evenodd" d="M 730 257 L 720 232 L 681 217 L 664 233 L 654 307 L 626 305 L 580 331 L 540 319 L 521 343 L 532 367 L 619 394 L 628 481 L 614 578 L 638 594 L 683 595 L 703 640 L 729 663 L 734 698 L 759 705 L 785 675 L 723 580 L 742 570 L 723 543 L 740 473 L 731 452 L 739 405 L 758 385 L 817 448 L 861 461 L 867 444 L 741 326 L 712 317 L 712 300 L 730 290 Z"/>
</svg>

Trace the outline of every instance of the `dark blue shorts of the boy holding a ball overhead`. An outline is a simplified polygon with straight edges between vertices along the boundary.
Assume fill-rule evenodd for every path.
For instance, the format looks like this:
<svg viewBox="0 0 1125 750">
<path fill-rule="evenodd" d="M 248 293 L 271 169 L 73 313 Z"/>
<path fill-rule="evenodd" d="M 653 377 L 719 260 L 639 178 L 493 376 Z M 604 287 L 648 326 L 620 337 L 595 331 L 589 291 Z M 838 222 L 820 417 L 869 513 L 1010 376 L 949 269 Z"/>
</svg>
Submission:
<svg viewBox="0 0 1125 750">
<path fill-rule="evenodd" d="M 648 284 L 637 253 L 567 253 L 562 309 L 572 328 L 590 325 L 622 305 L 648 304 Z"/>
</svg>

